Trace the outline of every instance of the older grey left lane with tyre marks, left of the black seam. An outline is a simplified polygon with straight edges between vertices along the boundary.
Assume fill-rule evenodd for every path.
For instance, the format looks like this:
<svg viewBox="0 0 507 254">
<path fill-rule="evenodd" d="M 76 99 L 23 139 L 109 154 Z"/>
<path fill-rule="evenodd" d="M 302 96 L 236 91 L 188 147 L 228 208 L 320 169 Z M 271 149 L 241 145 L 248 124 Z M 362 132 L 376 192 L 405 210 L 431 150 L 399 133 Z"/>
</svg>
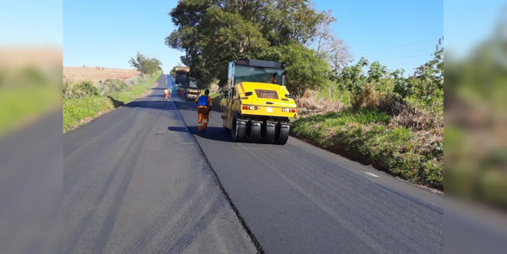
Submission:
<svg viewBox="0 0 507 254">
<path fill-rule="evenodd" d="M 255 253 L 158 82 L 63 136 L 63 251 Z"/>
</svg>

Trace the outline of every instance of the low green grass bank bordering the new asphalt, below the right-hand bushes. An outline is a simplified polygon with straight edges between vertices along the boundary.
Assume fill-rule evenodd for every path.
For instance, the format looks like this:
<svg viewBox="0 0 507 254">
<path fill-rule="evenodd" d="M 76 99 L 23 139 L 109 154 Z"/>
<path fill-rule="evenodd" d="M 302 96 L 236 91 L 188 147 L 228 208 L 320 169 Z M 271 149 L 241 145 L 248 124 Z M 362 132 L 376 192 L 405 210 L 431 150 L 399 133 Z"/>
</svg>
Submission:
<svg viewBox="0 0 507 254">
<path fill-rule="evenodd" d="M 347 109 L 293 121 L 291 134 L 411 182 L 442 189 L 443 163 L 406 128 L 388 128 L 378 109 Z M 443 151 L 442 151 L 443 152 Z"/>
</svg>

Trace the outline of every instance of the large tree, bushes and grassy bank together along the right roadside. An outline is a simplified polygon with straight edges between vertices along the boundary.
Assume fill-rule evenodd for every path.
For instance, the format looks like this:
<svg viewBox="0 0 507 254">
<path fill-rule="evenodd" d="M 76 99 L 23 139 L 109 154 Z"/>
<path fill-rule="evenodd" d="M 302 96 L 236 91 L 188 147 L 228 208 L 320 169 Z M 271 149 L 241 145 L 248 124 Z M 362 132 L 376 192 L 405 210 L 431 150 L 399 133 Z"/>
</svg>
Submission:
<svg viewBox="0 0 507 254">
<path fill-rule="evenodd" d="M 185 52 L 192 77 L 224 87 L 232 59 L 286 62 L 299 110 L 291 135 L 443 189 L 443 38 L 434 58 L 409 76 L 364 57 L 354 62 L 331 27 L 331 11 L 310 1 L 182 0 L 170 16 L 176 29 L 166 45 Z"/>
</svg>

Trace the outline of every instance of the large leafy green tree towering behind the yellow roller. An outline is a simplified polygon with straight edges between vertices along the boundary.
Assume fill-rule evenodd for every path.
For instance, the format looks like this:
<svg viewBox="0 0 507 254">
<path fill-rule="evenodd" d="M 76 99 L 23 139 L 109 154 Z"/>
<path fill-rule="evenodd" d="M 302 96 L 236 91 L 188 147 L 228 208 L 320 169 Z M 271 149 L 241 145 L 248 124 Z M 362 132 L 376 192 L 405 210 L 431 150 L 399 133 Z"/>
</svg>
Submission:
<svg viewBox="0 0 507 254">
<path fill-rule="evenodd" d="M 219 79 L 223 85 L 230 60 L 295 60 L 281 55 L 291 52 L 285 46 L 302 55 L 314 54 L 301 47 L 315 40 L 330 12 L 316 11 L 307 0 L 181 0 L 169 15 L 177 28 L 165 39 L 166 45 L 185 52 L 181 60 L 191 68 L 192 76 L 205 83 Z M 317 70 L 321 71 L 310 69 Z M 291 75 L 299 74 L 289 71 L 287 75 L 288 80 L 297 80 Z"/>
</svg>

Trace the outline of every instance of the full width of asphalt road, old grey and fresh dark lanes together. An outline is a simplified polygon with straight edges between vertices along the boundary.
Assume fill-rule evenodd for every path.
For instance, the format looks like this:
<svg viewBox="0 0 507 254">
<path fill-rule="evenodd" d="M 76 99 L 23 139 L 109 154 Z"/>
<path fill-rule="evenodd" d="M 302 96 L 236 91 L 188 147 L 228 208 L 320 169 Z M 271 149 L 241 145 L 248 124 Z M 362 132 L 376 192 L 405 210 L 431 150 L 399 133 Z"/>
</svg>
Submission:
<svg viewBox="0 0 507 254">
<path fill-rule="evenodd" d="M 195 103 L 163 101 L 164 77 L 63 136 L 64 252 L 444 252 L 442 196 L 292 137 L 230 142 L 219 112 L 197 134 Z M 446 252 L 507 249 L 452 218 L 461 248 Z"/>
</svg>

